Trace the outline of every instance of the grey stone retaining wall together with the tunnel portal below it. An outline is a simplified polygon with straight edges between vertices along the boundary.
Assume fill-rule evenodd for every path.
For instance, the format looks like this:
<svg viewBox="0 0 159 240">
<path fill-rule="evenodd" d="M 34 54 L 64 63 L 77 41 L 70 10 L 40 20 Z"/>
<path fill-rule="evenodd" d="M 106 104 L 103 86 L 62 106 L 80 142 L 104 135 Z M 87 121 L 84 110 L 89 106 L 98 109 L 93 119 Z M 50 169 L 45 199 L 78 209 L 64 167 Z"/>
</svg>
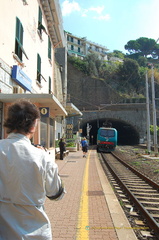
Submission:
<svg viewBox="0 0 159 240">
<path fill-rule="evenodd" d="M 84 75 L 70 63 L 68 94 L 70 102 L 83 112 L 83 123 L 97 118 L 116 119 L 132 125 L 140 139 L 146 139 L 146 104 L 119 104 L 120 95 L 106 82 Z"/>
</svg>

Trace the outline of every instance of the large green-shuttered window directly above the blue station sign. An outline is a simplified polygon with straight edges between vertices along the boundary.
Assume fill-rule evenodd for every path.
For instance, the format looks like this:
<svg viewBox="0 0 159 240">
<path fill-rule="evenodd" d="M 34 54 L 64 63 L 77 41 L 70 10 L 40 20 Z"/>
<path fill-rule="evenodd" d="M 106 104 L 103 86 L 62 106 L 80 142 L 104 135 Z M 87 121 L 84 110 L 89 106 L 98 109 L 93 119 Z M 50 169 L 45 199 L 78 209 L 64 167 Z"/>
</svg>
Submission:
<svg viewBox="0 0 159 240">
<path fill-rule="evenodd" d="M 22 61 L 23 54 L 28 59 L 23 48 L 23 32 L 23 26 L 19 18 L 16 18 L 15 54 L 19 57 L 20 61 Z"/>
</svg>

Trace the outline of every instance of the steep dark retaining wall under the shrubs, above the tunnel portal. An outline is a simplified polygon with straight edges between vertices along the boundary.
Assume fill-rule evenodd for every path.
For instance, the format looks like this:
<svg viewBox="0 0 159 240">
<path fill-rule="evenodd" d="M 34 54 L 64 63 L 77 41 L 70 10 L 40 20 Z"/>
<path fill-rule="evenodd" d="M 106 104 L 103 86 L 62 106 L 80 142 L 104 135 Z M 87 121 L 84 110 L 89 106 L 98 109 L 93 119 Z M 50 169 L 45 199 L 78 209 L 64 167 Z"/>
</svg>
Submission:
<svg viewBox="0 0 159 240">
<path fill-rule="evenodd" d="M 82 110 L 97 110 L 101 104 L 122 101 L 120 94 L 103 79 L 90 77 L 68 62 L 67 91 L 70 101 Z"/>
</svg>

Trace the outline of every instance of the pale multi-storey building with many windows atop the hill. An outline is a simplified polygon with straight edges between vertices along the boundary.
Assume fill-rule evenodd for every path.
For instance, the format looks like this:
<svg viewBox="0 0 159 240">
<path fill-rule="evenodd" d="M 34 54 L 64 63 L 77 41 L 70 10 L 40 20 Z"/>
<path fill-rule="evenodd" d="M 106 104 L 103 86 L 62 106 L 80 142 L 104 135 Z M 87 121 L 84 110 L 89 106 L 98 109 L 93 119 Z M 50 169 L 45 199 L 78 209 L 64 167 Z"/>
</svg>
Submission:
<svg viewBox="0 0 159 240">
<path fill-rule="evenodd" d="M 97 53 L 100 59 L 107 60 L 107 47 L 88 41 L 86 37 L 77 37 L 69 32 L 65 32 L 65 35 L 69 55 L 83 58 L 88 53 Z"/>
</svg>

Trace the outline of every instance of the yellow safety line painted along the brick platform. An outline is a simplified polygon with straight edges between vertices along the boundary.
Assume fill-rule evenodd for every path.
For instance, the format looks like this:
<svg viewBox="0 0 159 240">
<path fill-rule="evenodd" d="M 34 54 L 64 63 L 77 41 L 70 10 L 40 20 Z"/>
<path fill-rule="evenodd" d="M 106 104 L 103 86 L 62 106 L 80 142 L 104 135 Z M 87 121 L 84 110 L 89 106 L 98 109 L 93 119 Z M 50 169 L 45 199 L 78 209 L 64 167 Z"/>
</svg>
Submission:
<svg viewBox="0 0 159 240">
<path fill-rule="evenodd" d="M 80 208 L 78 212 L 77 236 L 76 240 L 89 240 L 89 212 L 88 212 L 88 170 L 89 170 L 90 151 L 86 161 Z"/>
</svg>

